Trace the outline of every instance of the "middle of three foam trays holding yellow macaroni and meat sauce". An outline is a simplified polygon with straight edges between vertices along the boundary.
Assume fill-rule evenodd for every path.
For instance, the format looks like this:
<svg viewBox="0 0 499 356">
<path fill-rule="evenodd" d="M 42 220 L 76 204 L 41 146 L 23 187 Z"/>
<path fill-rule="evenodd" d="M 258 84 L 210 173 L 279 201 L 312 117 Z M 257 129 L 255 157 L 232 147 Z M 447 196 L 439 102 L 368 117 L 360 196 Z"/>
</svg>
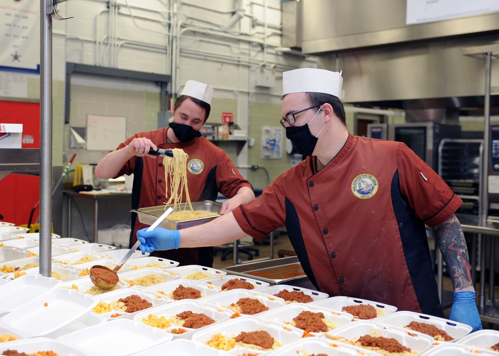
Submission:
<svg viewBox="0 0 499 356">
<path fill-rule="evenodd" d="M 184 299 L 139 312 L 133 320 L 170 333 L 174 339 L 190 339 L 196 331 L 229 320 L 232 314 L 213 304 Z"/>
</svg>

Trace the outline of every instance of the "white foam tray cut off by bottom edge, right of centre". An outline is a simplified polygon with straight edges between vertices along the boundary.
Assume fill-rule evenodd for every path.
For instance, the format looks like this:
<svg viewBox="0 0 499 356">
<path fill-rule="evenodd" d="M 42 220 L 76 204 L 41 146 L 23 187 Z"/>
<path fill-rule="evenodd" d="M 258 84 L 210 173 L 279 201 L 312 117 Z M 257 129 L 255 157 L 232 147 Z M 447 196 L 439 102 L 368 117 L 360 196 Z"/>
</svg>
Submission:
<svg viewBox="0 0 499 356">
<path fill-rule="evenodd" d="M 296 340 L 289 345 L 285 345 L 282 348 L 277 349 L 272 352 L 272 356 L 289 356 L 289 355 L 335 355 L 335 356 L 379 356 L 380 354 L 366 350 L 360 349 L 352 345 L 334 342 L 329 339 L 324 338 L 303 338 Z"/>
</svg>

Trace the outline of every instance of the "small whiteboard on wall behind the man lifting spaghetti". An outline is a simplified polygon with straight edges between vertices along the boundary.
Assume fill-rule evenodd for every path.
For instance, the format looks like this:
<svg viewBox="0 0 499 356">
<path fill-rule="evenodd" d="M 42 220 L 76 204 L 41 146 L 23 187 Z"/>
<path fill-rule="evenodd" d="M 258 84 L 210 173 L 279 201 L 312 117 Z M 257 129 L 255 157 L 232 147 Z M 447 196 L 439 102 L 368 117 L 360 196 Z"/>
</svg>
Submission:
<svg viewBox="0 0 499 356">
<path fill-rule="evenodd" d="M 126 140 L 126 117 L 87 115 L 87 151 L 116 150 Z"/>
</svg>

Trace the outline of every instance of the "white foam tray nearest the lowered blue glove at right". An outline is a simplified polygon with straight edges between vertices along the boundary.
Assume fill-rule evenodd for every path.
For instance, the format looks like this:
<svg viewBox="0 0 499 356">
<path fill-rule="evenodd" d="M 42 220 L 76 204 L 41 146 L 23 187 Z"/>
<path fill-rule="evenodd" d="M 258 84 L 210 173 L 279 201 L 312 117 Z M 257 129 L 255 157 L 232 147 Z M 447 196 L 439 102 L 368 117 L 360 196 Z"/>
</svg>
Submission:
<svg viewBox="0 0 499 356">
<path fill-rule="evenodd" d="M 451 338 L 454 338 L 455 340 L 458 340 L 465 335 L 470 334 L 473 330 L 473 328 L 467 324 L 450 321 L 444 318 L 434 317 L 432 315 L 408 311 L 395 312 L 376 319 L 376 323 L 378 324 L 393 325 L 399 328 L 404 328 L 410 322 L 435 325 L 437 328 L 445 331 Z M 438 345 L 439 343 L 440 342 L 437 341 L 434 342 L 435 345 Z"/>
</svg>

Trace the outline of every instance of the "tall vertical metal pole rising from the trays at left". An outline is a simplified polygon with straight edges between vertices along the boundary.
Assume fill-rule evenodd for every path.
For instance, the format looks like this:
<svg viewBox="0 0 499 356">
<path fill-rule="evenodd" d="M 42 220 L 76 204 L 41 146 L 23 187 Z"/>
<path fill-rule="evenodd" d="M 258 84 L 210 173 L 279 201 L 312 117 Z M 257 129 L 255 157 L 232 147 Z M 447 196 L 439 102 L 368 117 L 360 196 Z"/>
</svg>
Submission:
<svg viewBox="0 0 499 356">
<path fill-rule="evenodd" d="M 49 11 L 50 8 L 50 11 Z M 51 0 L 41 1 L 40 11 L 40 267 L 51 271 L 52 233 L 52 17 Z"/>
</svg>

